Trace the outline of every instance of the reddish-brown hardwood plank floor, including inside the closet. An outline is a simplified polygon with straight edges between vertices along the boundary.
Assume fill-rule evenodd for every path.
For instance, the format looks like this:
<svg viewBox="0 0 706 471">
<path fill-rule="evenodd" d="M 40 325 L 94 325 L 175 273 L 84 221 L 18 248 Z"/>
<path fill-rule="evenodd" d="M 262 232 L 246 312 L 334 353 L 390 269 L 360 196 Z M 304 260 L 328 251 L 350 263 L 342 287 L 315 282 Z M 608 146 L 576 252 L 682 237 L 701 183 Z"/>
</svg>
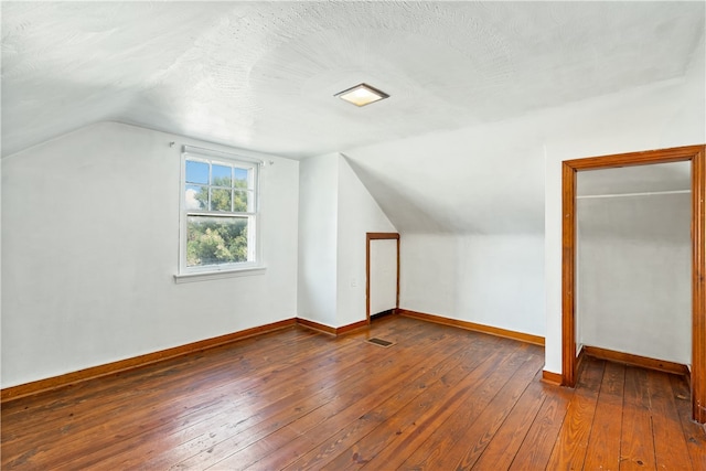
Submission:
<svg viewBox="0 0 706 471">
<path fill-rule="evenodd" d="M 389 347 L 365 342 L 377 336 Z M 17 399 L 2 469 L 706 470 L 683 377 L 396 315 L 302 328 Z"/>
</svg>

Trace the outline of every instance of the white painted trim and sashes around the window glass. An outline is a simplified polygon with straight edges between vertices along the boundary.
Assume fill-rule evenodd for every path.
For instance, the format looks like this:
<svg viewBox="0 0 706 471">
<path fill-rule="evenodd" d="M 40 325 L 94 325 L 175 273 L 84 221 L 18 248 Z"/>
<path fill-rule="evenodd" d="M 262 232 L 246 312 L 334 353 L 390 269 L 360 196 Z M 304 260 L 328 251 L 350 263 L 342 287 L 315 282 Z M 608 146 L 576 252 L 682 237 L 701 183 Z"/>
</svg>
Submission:
<svg viewBox="0 0 706 471">
<path fill-rule="evenodd" d="M 192 158 L 194 160 L 203 160 L 207 162 L 222 162 L 222 163 L 235 163 L 246 164 L 248 168 L 253 168 L 254 175 L 254 189 L 253 195 L 255 196 L 254 212 L 247 213 L 223 213 L 223 214 L 208 214 L 208 211 L 202 212 L 200 210 L 189 210 L 185 206 L 184 192 L 186 189 L 186 160 Z M 261 275 L 265 272 L 264 250 L 263 250 L 263 237 L 261 237 L 261 212 L 260 212 L 260 194 L 261 194 L 261 176 L 264 161 L 253 159 L 247 156 L 238 153 L 215 151 L 194 146 L 182 147 L 180 154 L 180 173 L 179 173 L 179 257 L 176 274 L 174 275 L 174 282 L 190 282 L 190 281 L 203 281 L 208 279 L 221 279 L 239 276 Z M 247 216 L 252 217 L 252 222 L 255 225 L 255 235 L 248 234 L 248 237 L 253 237 L 252 243 L 255 244 L 253 261 L 232 263 L 222 265 L 206 265 L 200 267 L 188 267 L 186 265 L 186 224 L 191 213 L 203 213 L 203 215 L 212 215 L 214 217 L 238 217 Z M 249 243 L 249 242 L 248 242 Z"/>
</svg>

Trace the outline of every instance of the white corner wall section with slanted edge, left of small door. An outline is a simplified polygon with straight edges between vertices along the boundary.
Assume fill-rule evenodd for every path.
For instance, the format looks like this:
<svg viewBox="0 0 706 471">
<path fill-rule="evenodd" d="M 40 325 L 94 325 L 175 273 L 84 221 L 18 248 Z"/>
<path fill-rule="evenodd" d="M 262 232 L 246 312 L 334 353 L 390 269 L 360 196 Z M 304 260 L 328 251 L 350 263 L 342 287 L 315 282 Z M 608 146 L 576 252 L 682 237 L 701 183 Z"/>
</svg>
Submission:
<svg viewBox="0 0 706 471">
<path fill-rule="evenodd" d="M 338 153 L 302 160 L 299 186 L 299 317 L 365 320 L 365 233 L 396 229 Z"/>
</svg>

